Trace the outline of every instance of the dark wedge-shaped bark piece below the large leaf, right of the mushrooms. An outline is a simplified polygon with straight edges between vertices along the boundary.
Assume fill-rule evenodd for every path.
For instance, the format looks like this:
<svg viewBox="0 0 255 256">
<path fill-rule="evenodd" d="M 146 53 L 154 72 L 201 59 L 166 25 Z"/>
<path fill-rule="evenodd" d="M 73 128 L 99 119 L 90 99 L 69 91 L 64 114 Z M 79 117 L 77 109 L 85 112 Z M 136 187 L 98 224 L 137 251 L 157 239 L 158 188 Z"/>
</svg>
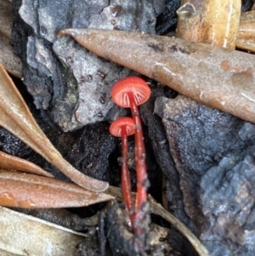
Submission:
<svg viewBox="0 0 255 256">
<path fill-rule="evenodd" d="M 244 143 L 235 136 L 242 123 L 183 96 L 168 100 L 165 106 L 163 124 L 179 173 L 185 212 L 195 222 L 196 228 L 193 226 L 192 230 L 195 229 L 196 234 L 203 223 L 201 211 L 197 208 L 199 191 L 196 182 L 222 156 L 243 146 Z"/>
</svg>

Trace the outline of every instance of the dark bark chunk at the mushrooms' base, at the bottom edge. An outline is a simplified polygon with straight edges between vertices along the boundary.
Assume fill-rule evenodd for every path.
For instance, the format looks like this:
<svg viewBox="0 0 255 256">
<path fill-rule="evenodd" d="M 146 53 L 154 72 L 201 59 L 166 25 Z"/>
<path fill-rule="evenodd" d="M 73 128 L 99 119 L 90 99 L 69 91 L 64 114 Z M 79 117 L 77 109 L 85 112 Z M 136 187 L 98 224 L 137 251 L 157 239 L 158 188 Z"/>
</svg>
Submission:
<svg viewBox="0 0 255 256">
<path fill-rule="evenodd" d="M 147 225 L 150 219 L 145 220 Z M 127 212 L 117 203 L 105 214 L 105 232 L 114 256 L 179 256 L 166 242 L 167 231 L 156 225 L 147 226 L 146 236 L 135 236 L 127 226 Z"/>
</svg>

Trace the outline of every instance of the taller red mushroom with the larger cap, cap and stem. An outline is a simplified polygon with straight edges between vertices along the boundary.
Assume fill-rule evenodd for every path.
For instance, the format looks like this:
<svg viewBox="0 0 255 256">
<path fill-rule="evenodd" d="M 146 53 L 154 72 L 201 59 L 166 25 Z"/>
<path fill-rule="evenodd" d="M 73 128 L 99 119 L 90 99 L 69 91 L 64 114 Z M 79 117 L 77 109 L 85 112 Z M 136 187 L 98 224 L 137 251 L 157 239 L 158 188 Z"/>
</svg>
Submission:
<svg viewBox="0 0 255 256">
<path fill-rule="evenodd" d="M 139 223 L 144 218 L 144 204 L 147 202 L 147 171 L 145 164 L 144 137 L 138 105 L 150 98 L 150 87 L 139 77 L 127 77 L 115 83 L 111 98 L 116 105 L 130 107 L 134 121 L 135 160 L 137 172 L 137 198 L 134 229 L 139 232 Z M 142 230 L 141 230 L 142 231 Z"/>
</svg>

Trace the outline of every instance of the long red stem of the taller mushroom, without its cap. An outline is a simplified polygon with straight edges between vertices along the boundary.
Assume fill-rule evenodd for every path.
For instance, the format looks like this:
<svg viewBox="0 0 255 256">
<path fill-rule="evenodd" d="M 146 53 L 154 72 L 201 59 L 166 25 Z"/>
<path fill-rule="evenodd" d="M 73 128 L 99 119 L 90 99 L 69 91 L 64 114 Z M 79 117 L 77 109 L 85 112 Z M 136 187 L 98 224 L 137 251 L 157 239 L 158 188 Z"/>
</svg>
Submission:
<svg viewBox="0 0 255 256">
<path fill-rule="evenodd" d="M 144 204 L 147 202 L 147 169 L 146 154 L 144 147 L 144 136 L 142 130 L 142 122 L 139 115 L 138 105 L 136 105 L 133 93 L 127 92 L 131 113 L 134 121 L 134 140 L 135 140 L 135 162 L 137 175 L 137 197 L 135 203 L 135 217 L 133 229 L 136 233 L 140 233 L 139 223 L 144 219 Z"/>
</svg>

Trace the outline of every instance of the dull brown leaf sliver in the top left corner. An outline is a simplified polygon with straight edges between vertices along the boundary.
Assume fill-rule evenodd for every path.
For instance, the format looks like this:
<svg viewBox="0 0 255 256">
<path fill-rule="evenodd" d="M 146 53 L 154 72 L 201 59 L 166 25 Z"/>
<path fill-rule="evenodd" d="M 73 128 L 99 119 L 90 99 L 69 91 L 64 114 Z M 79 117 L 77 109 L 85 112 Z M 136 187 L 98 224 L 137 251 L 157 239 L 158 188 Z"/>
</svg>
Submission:
<svg viewBox="0 0 255 256">
<path fill-rule="evenodd" d="M 8 0 L 0 0 L 0 33 L 8 40 L 10 40 L 12 30 L 12 17 L 12 4 Z"/>
</svg>

